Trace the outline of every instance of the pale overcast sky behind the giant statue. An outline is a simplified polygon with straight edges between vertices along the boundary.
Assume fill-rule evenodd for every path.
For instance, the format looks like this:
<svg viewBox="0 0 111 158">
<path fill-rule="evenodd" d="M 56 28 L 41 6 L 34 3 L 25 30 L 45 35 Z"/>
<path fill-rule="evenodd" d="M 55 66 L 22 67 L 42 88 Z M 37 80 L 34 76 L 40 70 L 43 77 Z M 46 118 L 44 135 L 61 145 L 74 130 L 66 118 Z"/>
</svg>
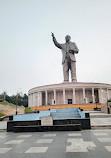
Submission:
<svg viewBox="0 0 111 158">
<path fill-rule="evenodd" d="M 0 0 L 0 93 L 63 82 L 51 32 L 78 46 L 78 82 L 111 84 L 111 0 Z"/>
</svg>

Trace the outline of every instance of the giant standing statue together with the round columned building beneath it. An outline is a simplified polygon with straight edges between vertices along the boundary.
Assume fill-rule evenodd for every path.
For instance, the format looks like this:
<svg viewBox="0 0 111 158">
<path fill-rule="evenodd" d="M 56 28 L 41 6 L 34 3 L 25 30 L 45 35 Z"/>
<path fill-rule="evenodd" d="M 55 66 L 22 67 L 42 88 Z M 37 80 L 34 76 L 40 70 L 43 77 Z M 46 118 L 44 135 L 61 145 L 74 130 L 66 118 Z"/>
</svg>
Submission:
<svg viewBox="0 0 111 158">
<path fill-rule="evenodd" d="M 44 105 L 105 104 L 111 98 L 111 84 L 77 82 L 75 54 L 79 50 L 76 44 L 70 41 L 69 35 L 65 37 L 64 44 L 58 43 L 53 33 L 52 39 L 62 51 L 64 82 L 30 89 L 28 106 L 36 108 Z M 69 82 L 69 70 L 72 82 Z"/>
</svg>

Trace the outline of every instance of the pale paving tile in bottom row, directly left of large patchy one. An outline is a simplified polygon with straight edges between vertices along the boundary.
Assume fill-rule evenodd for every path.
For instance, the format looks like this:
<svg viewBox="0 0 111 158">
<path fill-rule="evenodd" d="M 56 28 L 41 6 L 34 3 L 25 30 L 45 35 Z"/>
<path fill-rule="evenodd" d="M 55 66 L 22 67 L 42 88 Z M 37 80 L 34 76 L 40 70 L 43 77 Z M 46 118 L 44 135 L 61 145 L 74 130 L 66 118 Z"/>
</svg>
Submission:
<svg viewBox="0 0 111 158">
<path fill-rule="evenodd" d="M 25 153 L 45 153 L 48 147 L 30 147 Z"/>
</svg>

